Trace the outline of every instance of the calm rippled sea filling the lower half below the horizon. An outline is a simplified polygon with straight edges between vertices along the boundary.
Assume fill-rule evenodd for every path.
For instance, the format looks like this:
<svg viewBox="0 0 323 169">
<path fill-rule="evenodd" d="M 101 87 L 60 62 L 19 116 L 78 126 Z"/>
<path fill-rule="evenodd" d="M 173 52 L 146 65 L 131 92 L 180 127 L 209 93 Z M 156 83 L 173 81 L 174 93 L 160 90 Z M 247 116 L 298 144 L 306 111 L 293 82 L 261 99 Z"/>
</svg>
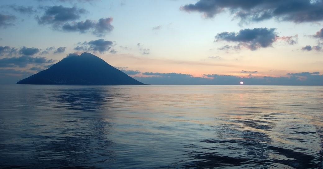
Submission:
<svg viewBox="0 0 323 169">
<path fill-rule="evenodd" d="M 323 168 L 323 86 L 3 85 L 0 168 Z"/>
</svg>

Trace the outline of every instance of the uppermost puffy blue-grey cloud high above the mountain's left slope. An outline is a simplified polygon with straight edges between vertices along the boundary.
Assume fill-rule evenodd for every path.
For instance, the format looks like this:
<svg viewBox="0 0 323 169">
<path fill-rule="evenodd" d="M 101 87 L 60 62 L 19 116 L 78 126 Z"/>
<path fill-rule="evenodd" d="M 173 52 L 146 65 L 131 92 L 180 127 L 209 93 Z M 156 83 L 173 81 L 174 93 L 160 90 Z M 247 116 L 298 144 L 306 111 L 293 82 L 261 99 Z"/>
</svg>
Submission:
<svg viewBox="0 0 323 169">
<path fill-rule="evenodd" d="M 86 12 L 83 8 L 49 6 L 46 7 L 45 13 L 42 16 L 37 16 L 38 24 L 53 24 L 57 25 L 67 21 L 74 21 L 80 18 L 81 14 Z"/>
</svg>

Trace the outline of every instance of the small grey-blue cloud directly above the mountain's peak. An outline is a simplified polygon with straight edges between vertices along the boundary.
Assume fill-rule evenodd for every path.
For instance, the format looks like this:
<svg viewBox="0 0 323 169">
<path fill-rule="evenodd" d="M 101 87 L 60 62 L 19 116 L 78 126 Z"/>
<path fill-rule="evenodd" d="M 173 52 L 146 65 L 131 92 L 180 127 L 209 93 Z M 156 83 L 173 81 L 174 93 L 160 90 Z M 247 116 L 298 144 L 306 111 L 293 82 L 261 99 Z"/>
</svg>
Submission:
<svg viewBox="0 0 323 169">
<path fill-rule="evenodd" d="M 93 40 L 90 42 L 84 42 L 84 43 L 82 43 L 82 45 L 83 46 L 77 46 L 74 49 L 75 50 L 82 50 L 82 51 L 93 51 L 93 52 L 104 53 L 104 52 L 109 51 L 111 49 L 113 42 L 107 41 L 104 39 L 98 39 L 98 40 Z"/>
</svg>

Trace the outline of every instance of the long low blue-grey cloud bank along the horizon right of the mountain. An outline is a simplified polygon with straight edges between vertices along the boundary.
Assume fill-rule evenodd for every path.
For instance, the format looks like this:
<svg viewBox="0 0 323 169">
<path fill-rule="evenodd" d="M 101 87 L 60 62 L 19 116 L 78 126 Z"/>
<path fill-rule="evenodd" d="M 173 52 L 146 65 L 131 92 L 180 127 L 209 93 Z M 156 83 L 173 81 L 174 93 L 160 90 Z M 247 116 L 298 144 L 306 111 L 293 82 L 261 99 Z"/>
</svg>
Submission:
<svg viewBox="0 0 323 169">
<path fill-rule="evenodd" d="M 177 73 L 142 73 L 150 77 L 135 76 L 136 80 L 152 85 L 239 85 L 241 81 L 245 85 L 323 85 L 323 75 L 314 73 L 289 74 L 289 77 L 239 77 L 233 75 L 204 75 L 205 77 L 193 77 L 187 74 Z M 300 75 L 304 75 L 300 77 Z"/>
</svg>

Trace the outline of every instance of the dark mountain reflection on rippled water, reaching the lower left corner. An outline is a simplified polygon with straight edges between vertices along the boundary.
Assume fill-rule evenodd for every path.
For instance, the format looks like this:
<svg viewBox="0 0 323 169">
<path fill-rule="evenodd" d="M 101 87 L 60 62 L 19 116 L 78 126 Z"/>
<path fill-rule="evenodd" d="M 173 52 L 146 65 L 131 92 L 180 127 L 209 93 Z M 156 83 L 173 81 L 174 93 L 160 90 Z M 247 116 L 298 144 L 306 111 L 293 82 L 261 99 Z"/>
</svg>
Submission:
<svg viewBox="0 0 323 169">
<path fill-rule="evenodd" d="M 108 102 L 109 90 L 55 88 L 35 94 L 38 100 L 27 111 L 28 114 L 18 117 L 7 114 L 8 123 L 16 118 L 23 117 L 25 120 L 6 125 L 15 134 L 1 134 L 5 136 L 0 140 L 2 166 L 98 168 L 115 158 L 111 148 L 113 142 L 108 137 L 111 127 L 109 116 L 68 115 L 68 110 L 89 113 L 100 110 L 103 105 L 113 104 Z"/>
</svg>

